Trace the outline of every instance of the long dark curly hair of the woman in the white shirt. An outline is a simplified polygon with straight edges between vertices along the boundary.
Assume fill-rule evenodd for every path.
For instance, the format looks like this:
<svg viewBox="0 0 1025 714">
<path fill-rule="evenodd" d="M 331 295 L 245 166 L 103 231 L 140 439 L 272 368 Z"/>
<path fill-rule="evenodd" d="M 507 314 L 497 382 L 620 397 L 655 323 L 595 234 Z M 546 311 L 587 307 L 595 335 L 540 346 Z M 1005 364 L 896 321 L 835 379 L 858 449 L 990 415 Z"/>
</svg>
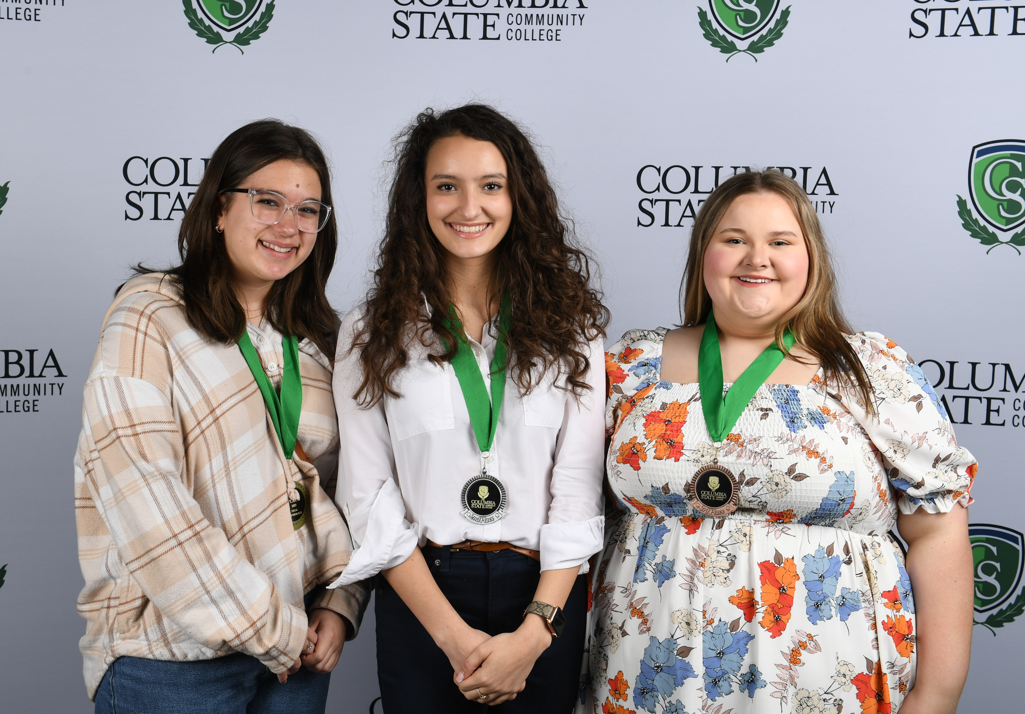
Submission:
<svg viewBox="0 0 1025 714">
<path fill-rule="evenodd" d="M 587 341 L 605 336 L 609 311 L 591 286 L 586 252 L 573 223 L 560 213 L 556 191 L 526 132 L 494 109 L 465 104 L 424 110 L 393 140 L 394 170 L 384 236 L 367 293 L 358 349 L 363 380 L 354 398 L 370 407 L 395 397 L 396 373 L 416 339 L 436 363 L 455 356 L 456 335 L 446 326 L 452 285 L 445 249 L 427 222 L 426 162 L 436 141 L 463 135 L 490 141 L 505 159 L 512 220 L 494 249 L 490 287 L 495 304 L 508 294 L 512 321 L 505 336 L 509 376 L 528 393 L 549 370 L 566 377 L 574 394 L 588 388 Z M 424 304 L 426 303 L 426 304 Z M 436 338 L 441 338 L 438 344 Z"/>
</svg>

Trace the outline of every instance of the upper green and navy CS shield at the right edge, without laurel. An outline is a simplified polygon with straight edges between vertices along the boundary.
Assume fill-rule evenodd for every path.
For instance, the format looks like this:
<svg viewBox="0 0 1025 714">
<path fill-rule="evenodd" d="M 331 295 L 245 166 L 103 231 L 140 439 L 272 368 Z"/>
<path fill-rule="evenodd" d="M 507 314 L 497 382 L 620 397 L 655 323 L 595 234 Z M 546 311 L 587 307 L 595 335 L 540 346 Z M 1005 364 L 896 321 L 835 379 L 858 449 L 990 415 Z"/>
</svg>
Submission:
<svg viewBox="0 0 1025 714">
<path fill-rule="evenodd" d="M 1025 141 L 973 146 L 968 171 L 972 203 L 984 221 L 997 230 L 1025 223 Z"/>
</svg>

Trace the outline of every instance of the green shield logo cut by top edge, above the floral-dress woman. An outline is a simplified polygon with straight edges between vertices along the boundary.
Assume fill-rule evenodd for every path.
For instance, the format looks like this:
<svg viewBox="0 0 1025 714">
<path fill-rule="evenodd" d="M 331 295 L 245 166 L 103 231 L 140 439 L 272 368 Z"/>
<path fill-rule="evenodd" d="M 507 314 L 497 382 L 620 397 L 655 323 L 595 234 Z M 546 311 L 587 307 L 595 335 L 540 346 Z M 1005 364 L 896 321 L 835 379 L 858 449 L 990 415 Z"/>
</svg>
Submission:
<svg viewBox="0 0 1025 714">
<path fill-rule="evenodd" d="M 726 58 L 727 61 L 737 54 L 748 54 L 757 61 L 758 58 L 754 55 L 765 52 L 776 44 L 783 37 L 783 30 L 790 22 L 789 5 L 779 13 L 778 18 L 776 17 L 779 5 L 780 0 L 708 0 L 707 12 L 703 7 L 698 7 L 701 33 L 712 47 L 723 54 L 730 55 Z M 715 19 L 714 25 L 712 18 Z M 776 22 L 773 26 L 763 33 L 762 31 L 769 27 L 774 18 Z M 720 32 L 715 25 L 719 25 L 723 32 Z M 751 40 L 755 35 L 757 37 Z M 745 47 L 737 45 L 736 41 L 747 40 L 751 41 Z"/>
</svg>

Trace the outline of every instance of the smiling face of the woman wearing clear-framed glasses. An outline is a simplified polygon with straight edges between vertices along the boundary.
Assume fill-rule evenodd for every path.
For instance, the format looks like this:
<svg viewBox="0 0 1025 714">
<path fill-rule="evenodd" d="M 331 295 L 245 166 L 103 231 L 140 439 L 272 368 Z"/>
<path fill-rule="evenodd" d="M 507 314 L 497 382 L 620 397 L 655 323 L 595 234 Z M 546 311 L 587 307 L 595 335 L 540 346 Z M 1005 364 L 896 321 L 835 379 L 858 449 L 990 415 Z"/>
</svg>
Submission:
<svg viewBox="0 0 1025 714">
<path fill-rule="evenodd" d="M 281 194 L 290 204 L 321 200 L 320 177 L 308 164 L 276 161 L 250 174 L 233 188 L 257 188 Z M 317 234 L 303 233 L 288 211 L 275 225 L 253 218 L 249 197 L 224 194 L 224 211 L 217 227 L 224 233 L 224 246 L 232 261 L 236 288 L 243 293 L 264 291 L 310 257 Z"/>
</svg>

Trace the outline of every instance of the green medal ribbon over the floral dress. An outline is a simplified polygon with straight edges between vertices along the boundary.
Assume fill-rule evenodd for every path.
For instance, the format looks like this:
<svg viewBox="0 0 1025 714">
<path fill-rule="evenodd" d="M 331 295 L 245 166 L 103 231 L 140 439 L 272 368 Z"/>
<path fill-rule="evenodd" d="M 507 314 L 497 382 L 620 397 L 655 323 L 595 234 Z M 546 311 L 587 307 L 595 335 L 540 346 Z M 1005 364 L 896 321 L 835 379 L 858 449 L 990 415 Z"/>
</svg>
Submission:
<svg viewBox="0 0 1025 714">
<path fill-rule="evenodd" d="M 793 347 L 795 341 L 793 333 L 789 330 L 783 333 L 783 342 L 787 349 Z M 704 334 L 701 336 L 701 348 L 698 351 L 698 385 L 701 388 L 701 409 L 704 412 L 705 424 L 716 448 L 737 423 L 737 419 L 750 404 L 754 392 L 765 384 L 769 375 L 779 367 L 785 356 L 779 345 L 773 342 L 748 365 L 724 397 L 723 353 L 719 348 L 715 318 L 710 311 L 708 312 Z"/>
</svg>

